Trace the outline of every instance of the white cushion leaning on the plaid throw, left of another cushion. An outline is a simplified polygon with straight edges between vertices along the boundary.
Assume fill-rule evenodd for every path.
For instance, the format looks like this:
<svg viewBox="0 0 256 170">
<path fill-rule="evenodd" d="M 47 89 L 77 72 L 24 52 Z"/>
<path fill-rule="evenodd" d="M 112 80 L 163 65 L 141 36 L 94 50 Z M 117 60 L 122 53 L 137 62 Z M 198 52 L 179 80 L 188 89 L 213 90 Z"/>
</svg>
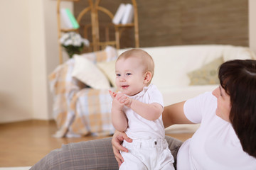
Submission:
<svg viewBox="0 0 256 170">
<path fill-rule="evenodd" d="M 110 89 L 110 81 L 92 61 L 80 55 L 74 55 L 74 58 L 73 77 L 92 87 L 92 89 Z"/>
</svg>

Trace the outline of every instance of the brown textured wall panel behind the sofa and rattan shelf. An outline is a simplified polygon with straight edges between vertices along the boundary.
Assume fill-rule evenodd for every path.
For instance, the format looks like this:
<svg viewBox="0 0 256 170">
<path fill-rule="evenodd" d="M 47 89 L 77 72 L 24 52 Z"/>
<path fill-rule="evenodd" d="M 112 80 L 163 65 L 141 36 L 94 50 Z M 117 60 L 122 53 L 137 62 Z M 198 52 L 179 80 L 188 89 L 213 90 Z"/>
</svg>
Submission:
<svg viewBox="0 0 256 170">
<path fill-rule="evenodd" d="M 102 0 L 112 13 L 128 0 Z M 87 0 L 74 4 L 75 15 Z M 229 44 L 248 46 L 247 0 L 137 0 L 140 47 Z M 101 23 L 111 22 L 100 16 Z M 90 17 L 83 20 L 90 23 Z M 104 30 L 101 35 L 104 37 Z M 134 47 L 133 29 L 122 33 L 121 47 Z M 112 34 L 114 38 L 114 34 Z"/>
</svg>

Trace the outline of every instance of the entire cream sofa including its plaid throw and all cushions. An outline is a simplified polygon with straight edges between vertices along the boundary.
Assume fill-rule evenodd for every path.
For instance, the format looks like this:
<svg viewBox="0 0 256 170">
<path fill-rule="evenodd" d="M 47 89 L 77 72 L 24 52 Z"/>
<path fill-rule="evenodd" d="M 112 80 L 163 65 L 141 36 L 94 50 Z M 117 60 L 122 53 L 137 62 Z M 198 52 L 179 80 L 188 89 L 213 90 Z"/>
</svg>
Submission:
<svg viewBox="0 0 256 170">
<path fill-rule="evenodd" d="M 222 62 L 234 59 L 255 60 L 255 54 L 248 47 L 231 45 L 182 45 L 143 47 L 142 49 L 154 59 L 155 74 L 152 83 L 156 84 L 163 94 L 165 106 L 184 101 L 205 91 L 213 91 L 218 86 L 217 69 Z M 100 62 L 94 60 L 95 65 L 89 64 L 90 69 L 88 65 L 83 67 L 82 57 L 97 58 L 99 53 L 103 56 L 105 53 L 94 52 L 81 55 L 75 57 L 75 60 L 65 62 L 51 74 L 50 86 L 55 94 L 53 114 L 59 127 L 57 137 L 68 136 L 67 134 L 70 136 L 87 135 L 92 131 L 95 135 L 110 135 L 114 131 L 110 125 L 110 101 L 112 99 L 107 90 L 110 88 L 110 82 L 114 84 L 114 62 L 117 56 L 125 50 L 127 49 L 116 52 L 111 48 L 106 49 L 107 57 L 103 62 L 102 59 Z M 91 72 L 92 69 L 93 72 Z M 97 76 L 94 75 L 96 72 L 99 73 Z M 91 87 L 93 85 L 90 84 L 93 82 L 87 81 L 89 76 L 96 77 L 95 81 L 100 81 L 100 83 L 95 82 L 96 89 L 85 86 L 85 84 Z M 99 80 L 100 76 L 102 78 Z M 81 77 L 86 77 L 85 81 L 80 79 Z M 84 84 L 81 84 L 81 81 Z M 63 86 L 63 84 L 68 84 L 68 86 Z M 94 94 L 98 97 L 96 101 Z M 90 103 L 93 105 L 89 106 Z M 90 110 L 89 113 L 88 110 Z M 91 118 L 92 120 L 88 120 Z M 194 132 L 197 128 L 198 125 L 174 125 L 167 128 L 166 132 Z"/>
</svg>

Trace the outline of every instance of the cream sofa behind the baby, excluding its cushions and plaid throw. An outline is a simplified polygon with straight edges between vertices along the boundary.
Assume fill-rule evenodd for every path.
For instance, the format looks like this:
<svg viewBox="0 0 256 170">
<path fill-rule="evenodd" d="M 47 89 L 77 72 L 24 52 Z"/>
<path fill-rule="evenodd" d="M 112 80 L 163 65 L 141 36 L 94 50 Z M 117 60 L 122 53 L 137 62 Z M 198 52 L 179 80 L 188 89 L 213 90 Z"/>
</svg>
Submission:
<svg viewBox="0 0 256 170">
<path fill-rule="evenodd" d="M 188 73 L 197 69 L 199 72 L 213 60 L 220 57 L 223 57 L 223 62 L 235 59 L 255 60 L 255 54 L 249 48 L 232 45 L 182 45 L 142 49 L 154 59 L 155 74 L 152 83 L 156 84 L 163 94 L 165 106 L 185 101 L 205 91 L 213 91 L 218 87 L 218 84 L 190 85 L 191 80 L 188 77 Z M 118 52 L 120 54 L 124 50 Z M 218 70 L 218 67 L 214 69 Z M 197 128 L 198 125 L 174 125 L 167 128 L 166 132 L 195 132 Z"/>
</svg>

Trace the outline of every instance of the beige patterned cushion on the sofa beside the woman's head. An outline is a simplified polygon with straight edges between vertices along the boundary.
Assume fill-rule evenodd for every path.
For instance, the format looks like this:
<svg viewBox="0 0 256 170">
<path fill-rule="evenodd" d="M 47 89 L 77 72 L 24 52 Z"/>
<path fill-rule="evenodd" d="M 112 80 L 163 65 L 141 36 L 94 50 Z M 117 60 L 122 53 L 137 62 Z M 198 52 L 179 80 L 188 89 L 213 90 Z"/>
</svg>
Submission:
<svg viewBox="0 0 256 170">
<path fill-rule="evenodd" d="M 189 85 L 219 84 L 218 67 L 223 63 L 223 57 L 218 57 L 212 62 L 203 65 L 200 69 L 188 72 Z"/>
</svg>

